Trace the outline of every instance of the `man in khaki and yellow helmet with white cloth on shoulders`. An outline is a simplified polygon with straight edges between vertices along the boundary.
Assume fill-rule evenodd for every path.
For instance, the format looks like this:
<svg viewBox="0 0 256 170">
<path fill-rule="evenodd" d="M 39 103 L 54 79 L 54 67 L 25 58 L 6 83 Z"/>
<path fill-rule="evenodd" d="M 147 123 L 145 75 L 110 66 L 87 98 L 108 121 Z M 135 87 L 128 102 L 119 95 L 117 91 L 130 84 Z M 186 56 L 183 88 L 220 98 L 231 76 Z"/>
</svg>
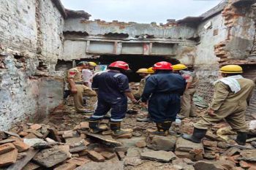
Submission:
<svg viewBox="0 0 256 170">
<path fill-rule="evenodd" d="M 194 124 L 192 135 L 184 134 L 184 139 L 200 143 L 208 127 L 225 119 L 237 132 L 236 142 L 246 144 L 248 127 L 245 111 L 255 88 L 255 82 L 241 76 L 243 69 L 238 65 L 222 66 L 222 79 L 214 82 L 214 98 L 207 115 Z"/>
</svg>

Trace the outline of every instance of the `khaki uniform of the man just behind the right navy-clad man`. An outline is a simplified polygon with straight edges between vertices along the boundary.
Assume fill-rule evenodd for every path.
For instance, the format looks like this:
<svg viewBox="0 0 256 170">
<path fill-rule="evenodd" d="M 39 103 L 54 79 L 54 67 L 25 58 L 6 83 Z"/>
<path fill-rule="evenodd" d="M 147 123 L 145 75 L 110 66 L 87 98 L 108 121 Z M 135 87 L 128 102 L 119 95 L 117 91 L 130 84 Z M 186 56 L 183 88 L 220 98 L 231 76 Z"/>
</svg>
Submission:
<svg viewBox="0 0 256 170">
<path fill-rule="evenodd" d="M 193 96 L 196 92 L 198 77 L 197 74 L 193 72 L 184 72 L 181 74 L 186 82 L 191 82 L 189 89 L 184 91 L 183 96 L 181 97 L 181 117 L 195 117 L 195 104 L 193 103 Z"/>
</svg>

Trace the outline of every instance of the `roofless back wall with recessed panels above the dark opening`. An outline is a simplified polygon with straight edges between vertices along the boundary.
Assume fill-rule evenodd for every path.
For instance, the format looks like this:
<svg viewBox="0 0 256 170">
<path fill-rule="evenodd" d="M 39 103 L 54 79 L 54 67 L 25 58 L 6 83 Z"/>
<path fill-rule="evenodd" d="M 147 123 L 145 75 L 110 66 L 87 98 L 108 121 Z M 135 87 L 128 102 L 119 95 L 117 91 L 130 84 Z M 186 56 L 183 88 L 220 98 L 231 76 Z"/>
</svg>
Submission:
<svg viewBox="0 0 256 170">
<path fill-rule="evenodd" d="M 72 18 L 66 20 L 64 33 L 64 61 L 105 54 L 167 56 L 189 65 L 195 59 L 192 26 Z"/>
</svg>

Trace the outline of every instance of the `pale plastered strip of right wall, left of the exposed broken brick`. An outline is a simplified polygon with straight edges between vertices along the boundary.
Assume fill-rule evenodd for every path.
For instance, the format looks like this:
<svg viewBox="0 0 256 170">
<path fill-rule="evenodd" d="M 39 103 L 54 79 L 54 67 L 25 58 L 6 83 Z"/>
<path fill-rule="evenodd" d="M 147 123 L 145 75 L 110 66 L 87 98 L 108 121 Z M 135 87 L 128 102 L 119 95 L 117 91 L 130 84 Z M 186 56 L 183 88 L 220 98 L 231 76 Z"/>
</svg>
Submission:
<svg viewBox="0 0 256 170">
<path fill-rule="evenodd" d="M 212 26 L 206 29 L 203 26 L 208 22 L 211 22 Z M 200 23 L 197 31 L 200 36 L 194 63 L 200 79 L 197 93 L 209 101 L 214 93 L 213 82 L 217 80 L 219 69 L 219 58 L 214 54 L 214 45 L 226 39 L 227 28 L 224 25 L 224 18 L 219 13 Z"/>
</svg>

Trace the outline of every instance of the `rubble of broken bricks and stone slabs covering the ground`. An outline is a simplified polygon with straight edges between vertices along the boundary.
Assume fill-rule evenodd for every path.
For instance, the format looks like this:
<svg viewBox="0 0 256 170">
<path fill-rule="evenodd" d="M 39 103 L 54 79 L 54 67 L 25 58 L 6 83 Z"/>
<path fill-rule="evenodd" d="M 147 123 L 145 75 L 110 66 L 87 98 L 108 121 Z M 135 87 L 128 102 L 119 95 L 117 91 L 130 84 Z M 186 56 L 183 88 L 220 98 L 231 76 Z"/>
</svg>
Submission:
<svg viewBox="0 0 256 170">
<path fill-rule="evenodd" d="M 236 133 L 227 123 L 212 126 L 202 143 L 195 144 L 181 134 L 191 134 L 198 117 L 174 122 L 169 136 L 154 136 L 150 134 L 154 123 L 136 122 L 146 112 L 135 107 L 138 114 L 127 115 L 122 123 L 124 128 L 132 128 L 132 136 L 113 139 L 109 117 L 100 124 L 108 131 L 91 134 L 89 115 L 65 107 L 43 120 L 45 124 L 24 123 L 0 131 L 1 169 L 256 169 L 254 120 L 249 123 L 250 139 L 245 146 L 235 144 Z M 64 121 L 54 118 L 61 114 Z"/>
</svg>

